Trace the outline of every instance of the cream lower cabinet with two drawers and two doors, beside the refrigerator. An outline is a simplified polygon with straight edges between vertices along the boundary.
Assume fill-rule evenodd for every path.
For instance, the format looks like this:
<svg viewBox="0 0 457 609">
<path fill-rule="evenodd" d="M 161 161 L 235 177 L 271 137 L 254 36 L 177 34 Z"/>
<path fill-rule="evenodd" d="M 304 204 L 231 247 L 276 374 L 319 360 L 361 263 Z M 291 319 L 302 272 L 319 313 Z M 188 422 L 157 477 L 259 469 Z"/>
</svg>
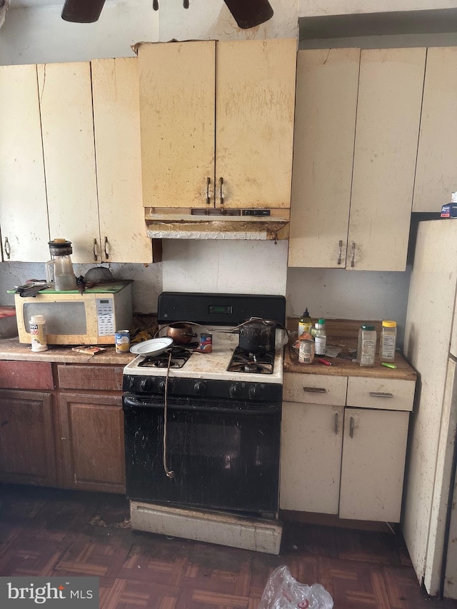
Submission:
<svg viewBox="0 0 457 609">
<path fill-rule="evenodd" d="M 280 508 L 399 522 L 414 387 L 285 373 Z"/>
</svg>

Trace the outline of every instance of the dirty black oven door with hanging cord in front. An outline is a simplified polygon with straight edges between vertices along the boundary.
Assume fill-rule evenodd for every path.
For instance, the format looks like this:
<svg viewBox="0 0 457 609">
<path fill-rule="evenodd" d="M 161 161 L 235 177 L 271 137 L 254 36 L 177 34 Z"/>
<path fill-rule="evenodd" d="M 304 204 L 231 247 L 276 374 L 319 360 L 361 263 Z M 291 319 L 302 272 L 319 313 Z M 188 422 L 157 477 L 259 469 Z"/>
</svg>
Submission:
<svg viewBox="0 0 457 609">
<path fill-rule="evenodd" d="M 130 499 L 276 516 L 281 403 L 168 398 L 164 442 L 163 398 L 126 393 L 124 423 Z"/>
</svg>

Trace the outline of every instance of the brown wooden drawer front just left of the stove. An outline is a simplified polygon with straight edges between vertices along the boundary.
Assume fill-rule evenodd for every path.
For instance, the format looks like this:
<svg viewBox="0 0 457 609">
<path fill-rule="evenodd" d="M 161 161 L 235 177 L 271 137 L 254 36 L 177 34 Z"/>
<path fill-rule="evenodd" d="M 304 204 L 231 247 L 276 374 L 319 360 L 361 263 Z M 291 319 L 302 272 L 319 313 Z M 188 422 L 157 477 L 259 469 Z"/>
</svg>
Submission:
<svg viewBox="0 0 457 609">
<path fill-rule="evenodd" d="M 57 366 L 61 389 L 95 389 L 99 391 L 121 391 L 124 366 Z"/>
</svg>

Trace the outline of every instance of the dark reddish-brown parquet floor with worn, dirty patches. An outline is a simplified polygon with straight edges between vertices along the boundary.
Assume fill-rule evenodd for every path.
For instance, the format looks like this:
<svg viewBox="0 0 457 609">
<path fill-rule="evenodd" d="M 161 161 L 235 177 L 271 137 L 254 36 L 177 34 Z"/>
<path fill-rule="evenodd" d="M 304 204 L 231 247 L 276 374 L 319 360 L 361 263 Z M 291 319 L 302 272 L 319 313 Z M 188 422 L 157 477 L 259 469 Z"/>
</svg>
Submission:
<svg viewBox="0 0 457 609">
<path fill-rule="evenodd" d="M 418 584 L 398 533 L 285 523 L 278 556 L 132 531 L 126 499 L 0 485 L 0 575 L 99 578 L 101 609 L 257 609 L 288 565 L 335 609 L 450 609 Z"/>
</svg>

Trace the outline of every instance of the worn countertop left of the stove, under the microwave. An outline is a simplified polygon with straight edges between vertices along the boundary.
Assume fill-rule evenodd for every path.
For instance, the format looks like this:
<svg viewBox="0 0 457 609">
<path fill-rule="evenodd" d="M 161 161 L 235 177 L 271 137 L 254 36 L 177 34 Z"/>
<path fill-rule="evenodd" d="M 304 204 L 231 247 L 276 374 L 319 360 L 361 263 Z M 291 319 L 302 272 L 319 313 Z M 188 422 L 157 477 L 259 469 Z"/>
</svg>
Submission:
<svg viewBox="0 0 457 609">
<path fill-rule="evenodd" d="M 19 343 L 19 338 L 4 338 L 0 340 L 0 360 L 16 361 L 48 361 L 61 363 L 93 363 L 114 364 L 125 366 L 134 359 L 133 353 L 116 353 L 114 345 L 106 345 L 106 351 L 94 356 L 76 353 L 71 347 L 49 345 L 48 351 L 31 351 L 31 346 Z"/>
</svg>

